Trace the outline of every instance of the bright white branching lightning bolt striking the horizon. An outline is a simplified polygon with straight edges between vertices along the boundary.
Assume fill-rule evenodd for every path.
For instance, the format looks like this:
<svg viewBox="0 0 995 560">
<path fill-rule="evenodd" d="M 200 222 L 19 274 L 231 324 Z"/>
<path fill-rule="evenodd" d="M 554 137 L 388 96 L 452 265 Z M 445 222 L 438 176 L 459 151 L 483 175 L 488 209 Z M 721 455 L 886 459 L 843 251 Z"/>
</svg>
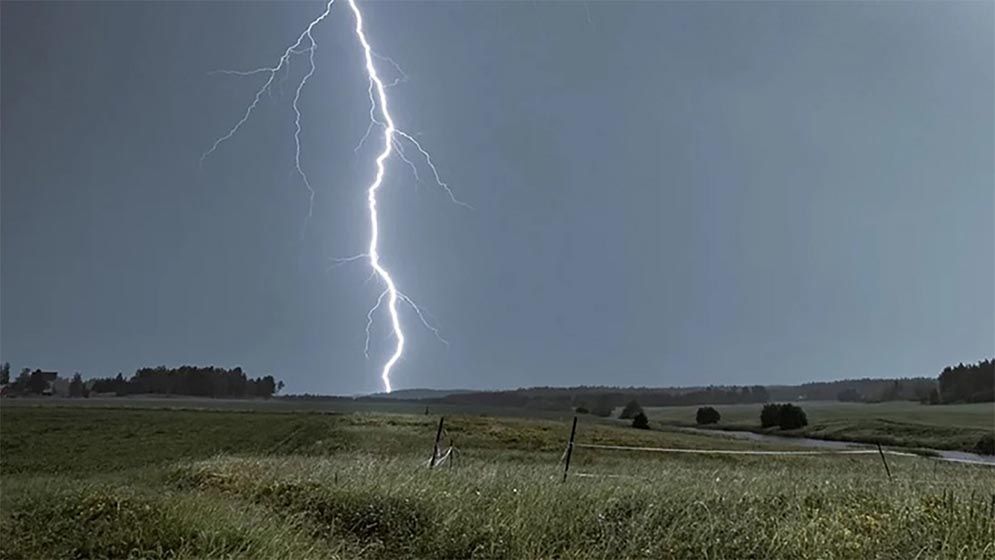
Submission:
<svg viewBox="0 0 995 560">
<path fill-rule="evenodd" d="M 265 75 L 267 76 L 267 79 L 263 83 L 262 87 L 260 87 L 256 91 L 255 97 L 246 108 L 241 119 L 239 119 L 234 124 L 234 126 L 232 126 L 228 130 L 227 133 L 216 139 L 214 141 L 214 144 L 210 147 L 210 149 L 204 152 L 204 154 L 201 156 L 201 163 L 203 163 L 203 161 L 206 160 L 215 151 L 217 151 L 217 149 L 222 144 L 224 144 L 225 142 L 230 140 L 233 136 L 235 136 L 235 134 L 238 133 L 238 131 L 242 128 L 243 125 L 245 125 L 245 123 L 252 116 L 252 113 L 259 106 L 259 102 L 262 99 L 263 95 L 266 94 L 267 92 L 272 91 L 273 82 L 276 80 L 277 76 L 280 75 L 281 73 L 283 73 L 284 77 L 286 76 L 286 73 L 289 71 L 289 65 L 291 59 L 294 56 L 306 54 L 308 60 L 308 70 L 301 78 L 300 82 L 298 82 L 297 84 L 297 88 L 294 91 L 293 102 L 291 105 L 294 111 L 294 145 L 296 148 L 294 152 L 294 168 L 297 175 L 300 176 L 301 181 L 303 182 L 304 187 L 307 189 L 308 192 L 309 204 L 308 204 L 307 219 L 310 219 L 312 215 L 315 191 L 314 188 L 312 187 L 311 180 L 308 178 L 307 173 L 304 172 L 304 168 L 301 165 L 300 137 L 301 137 L 302 125 L 301 125 L 301 110 L 299 103 L 301 99 L 301 92 L 304 90 L 304 87 L 307 85 L 308 80 L 315 73 L 314 53 L 317 50 L 317 42 L 315 41 L 314 36 L 312 35 L 312 31 L 314 30 L 315 26 L 317 26 L 319 23 L 322 22 L 322 20 L 328 17 L 328 15 L 331 13 L 332 4 L 334 4 L 334 2 L 335 0 L 328 0 L 328 2 L 325 4 L 325 10 L 318 17 L 312 20 L 311 23 L 308 24 L 308 26 L 304 29 L 304 31 L 297 37 L 296 42 L 287 47 L 287 49 L 283 52 L 283 55 L 277 61 L 277 64 L 275 66 L 264 66 L 260 68 L 254 68 L 251 70 L 219 70 L 213 72 L 216 74 L 227 74 L 234 76 Z M 431 155 L 425 148 L 422 147 L 421 143 L 419 143 L 418 140 L 413 135 L 398 129 L 397 126 L 394 124 L 394 117 L 391 115 L 389 110 L 389 104 L 387 100 L 387 90 L 393 86 L 396 86 L 399 83 L 406 81 L 407 75 L 404 73 L 403 70 L 401 70 L 400 66 L 398 66 L 397 63 L 394 62 L 392 59 L 377 54 L 373 50 L 373 47 L 370 45 L 370 41 L 366 36 L 366 32 L 363 29 L 363 14 L 360 11 L 359 6 L 356 4 L 356 0 L 347 0 L 347 2 L 349 4 L 350 10 L 353 13 L 353 16 L 355 17 L 356 39 L 359 42 L 360 47 L 362 47 L 363 51 L 363 61 L 368 80 L 367 94 L 370 100 L 370 108 L 369 108 L 370 124 L 366 129 L 366 133 L 360 139 L 359 144 L 357 144 L 354 151 L 358 152 L 359 149 L 363 146 L 363 144 L 370 138 L 373 131 L 378 127 L 382 128 L 383 130 L 383 143 L 380 152 L 377 154 L 376 159 L 374 160 L 374 166 L 376 172 L 373 181 L 366 187 L 366 200 L 370 215 L 369 248 L 365 253 L 341 259 L 333 259 L 333 261 L 335 262 L 336 265 L 339 265 L 348 262 L 358 261 L 360 259 L 366 259 L 370 264 L 370 268 L 372 268 L 371 277 L 375 276 L 379 278 L 379 280 L 385 286 L 384 290 L 380 293 L 379 297 L 377 297 L 376 303 L 373 305 L 373 307 L 369 310 L 369 312 L 366 315 L 367 319 L 366 342 L 363 346 L 363 353 L 364 355 L 369 357 L 370 331 L 373 326 L 374 314 L 381 307 L 383 307 L 384 300 L 386 299 L 386 308 L 387 308 L 387 313 L 390 317 L 390 324 L 391 324 L 395 345 L 394 345 L 394 351 L 391 353 L 390 358 L 383 365 L 383 369 L 381 370 L 380 373 L 380 379 L 383 382 L 384 390 L 390 393 L 392 390 L 390 382 L 390 374 L 391 371 L 394 369 L 394 366 L 397 365 L 397 362 L 401 359 L 401 356 L 404 354 L 404 346 L 405 346 L 404 330 L 401 326 L 401 319 L 398 313 L 399 302 L 403 302 L 409 305 L 414 310 L 415 315 L 417 315 L 421 323 L 427 329 L 429 329 L 433 334 L 435 334 L 436 338 L 438 338 L 440 341 L 442 341 L 447 345 L 448 342 L 444 338 L 442 338 L 441 334 L 439 333 L 439 329 L 437 329 L 431 323 L 428 322 L 428 320 L 425 318 L 425 314 L 422 312 L 422 309 L 418 307 L 418 305 L 415 304 L 415 302 L 410 297 L 408 297 L 400 290 L 398 290 L 393 277 L 390 275 L 390 272 L 387 270 L 386 267 L 384 267 L 383 263 L 380 260 L 380 221 L 379 221 L 379 214 L 377 212 L 377 203 L 378 203 L 377 194 L 380 188 L 383 186 L 384 177 L 386 174 L 387 161 L 391 158 L 391 156 L 397 154 L 398 157 L 411 168 L 412 173 L 415 176 L 415 180 L 417 182 L 421 182 L 421 177 L 418 174 L 418 167 L 415 165 L 413 161 L 411 161 L 407 157 L 407 155 L 404 152 L 403 142 L 407 142 L 408 144 L 413 146 L 415 150 L 417 150 L 419 155 L 421 155 L 425 165 L 431 170 L 432 177 L 435 180 L 436 185 L 446 193 L 449 199 L 453 203 L 458 204 L 460 206 L 464 206 L 466 208 L 471 208 L 471 207 L 468 204 L 456 198 L 450 186 L 445 181 L 442 180 L 442 177 L 439 174 L 438 169 L 435 167 L 435 164 L 432 161 Z M 379 72 L 377 71 L 376 63 L 374 62 L 375 60 L 382 60 L 390 64 L 393 67 L 394 71 L 397 73 L 398 77 L 396 77 L 392 82 L 385 84 L 383 79 L 380 77 Z M 305 224 L 306 223 L 307 220 L 305 220 Z"/>
</svg>

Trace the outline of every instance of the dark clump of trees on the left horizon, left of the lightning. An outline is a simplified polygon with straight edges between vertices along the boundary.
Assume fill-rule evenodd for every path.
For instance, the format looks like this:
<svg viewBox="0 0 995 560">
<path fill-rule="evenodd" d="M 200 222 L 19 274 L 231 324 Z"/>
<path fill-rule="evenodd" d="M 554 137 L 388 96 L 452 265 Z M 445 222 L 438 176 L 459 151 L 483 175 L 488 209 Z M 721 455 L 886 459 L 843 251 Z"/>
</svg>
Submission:
<svg viewBox="0 0 995 560">
<path fill-rule="evenodd" d="M 236 367 L 225 369 L 214 366 L 180 366 L 167 368 L 142 368 L 130 378 L 96 378 L 87 383 L 93 393 L 116 395 L 187 395 L 194 397 L 264 397 L 269 398 L 283 388 L 283 382 L 272 375 L 249 378 Z"/>
</svg>

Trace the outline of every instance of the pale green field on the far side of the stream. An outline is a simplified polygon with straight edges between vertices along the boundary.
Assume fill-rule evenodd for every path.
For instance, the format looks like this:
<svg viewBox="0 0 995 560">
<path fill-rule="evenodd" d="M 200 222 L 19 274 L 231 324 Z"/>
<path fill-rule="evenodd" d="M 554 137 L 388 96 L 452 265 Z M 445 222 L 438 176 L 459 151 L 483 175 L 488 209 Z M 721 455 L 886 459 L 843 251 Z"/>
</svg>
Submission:
<svg viewBox="0 0 995 560">
<path fill-rule="evenodd" d="M 903 447 L 973 451 L 981 436 L 995 431 L 995 404 L 921 405 L 914 402 L 797 403 L 809 425 L 785 435 L 819 439 L 881 443 Z M 715 405 L 726 430 L 760 429 L 761 404 Z M 651 420 L 693 425 L 697 406 L 647 408 Z M 782 433 L 775 429 L 776 433 Z"/>
</svg>

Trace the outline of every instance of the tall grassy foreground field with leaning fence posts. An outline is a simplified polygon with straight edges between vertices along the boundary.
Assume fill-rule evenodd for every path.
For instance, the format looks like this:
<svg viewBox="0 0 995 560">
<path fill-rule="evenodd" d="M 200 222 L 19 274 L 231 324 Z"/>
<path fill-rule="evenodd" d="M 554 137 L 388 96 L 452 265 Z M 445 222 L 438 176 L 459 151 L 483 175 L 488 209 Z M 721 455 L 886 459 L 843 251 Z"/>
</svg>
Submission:
<svg viewBox="0 0 995 560">
<path fill-rule="evenodd" d="M 448 418 L 459 459 L 429 470 L 437 421 L 5 403 L 0 558 L 995 558 L 995 469 L 578 448 L 561 483 L 567 422 Z"/>
</svg>

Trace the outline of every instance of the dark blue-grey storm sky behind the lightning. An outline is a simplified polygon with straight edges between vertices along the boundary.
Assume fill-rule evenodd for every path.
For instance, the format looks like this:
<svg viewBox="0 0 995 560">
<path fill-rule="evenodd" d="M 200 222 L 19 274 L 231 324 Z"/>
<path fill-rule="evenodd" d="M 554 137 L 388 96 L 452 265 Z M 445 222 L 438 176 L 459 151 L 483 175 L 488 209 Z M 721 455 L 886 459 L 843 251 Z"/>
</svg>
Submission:
<svg viewBox="0 0 995 560">
<path fill-rule="evenodd" d="M 995 347 L 990 2 L 376 2 L 390 91 L 468 211 L 392 164 L 403 387 L 935 375 Z M 318 3 L 2 7 L 0 352 L 379 389 L 376 146 L 347 5 L 203 166 Z M 389 74 L 389 68 L 383 67 Z M 427 175 L 427 170 L 422 170 Z"/>
</svg>

